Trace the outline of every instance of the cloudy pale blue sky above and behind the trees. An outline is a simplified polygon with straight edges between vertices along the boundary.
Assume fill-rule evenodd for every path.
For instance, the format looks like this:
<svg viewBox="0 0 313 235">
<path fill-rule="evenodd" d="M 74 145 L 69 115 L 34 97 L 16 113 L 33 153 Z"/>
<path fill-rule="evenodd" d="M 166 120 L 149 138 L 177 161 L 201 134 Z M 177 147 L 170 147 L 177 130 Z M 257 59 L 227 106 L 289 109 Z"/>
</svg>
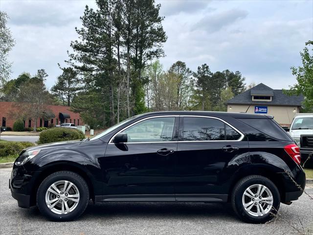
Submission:
<svg viewBox="0 0 313 235">
<path fill-rule="evenodd" d="M 274 89 L 296 82 L 290 67 L 301 65 L 299 52 L 313 40 L 313 0 L 156 0 L 168 36 L 165 69 L 177 60 L 191 70 L 203 63 L 211 71 L 241 71 L 246 83 Z M 94 0 L 0 0 L 16 40 L 10 52 L 15 78 L 45 69 L 50 88 L 65 66 L 69 44 L 85 5 Z"/>
</svg>

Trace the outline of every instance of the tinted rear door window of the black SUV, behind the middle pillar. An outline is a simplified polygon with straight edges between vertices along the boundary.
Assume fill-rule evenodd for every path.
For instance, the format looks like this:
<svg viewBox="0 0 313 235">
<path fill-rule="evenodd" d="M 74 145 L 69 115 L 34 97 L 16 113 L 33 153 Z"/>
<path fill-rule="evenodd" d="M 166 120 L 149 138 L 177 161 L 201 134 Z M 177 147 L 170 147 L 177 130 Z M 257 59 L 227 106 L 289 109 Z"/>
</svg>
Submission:
<svg viewBox="0 0 313 235">
<path fill-rule="evenodd" d="M 182 141 L 224 141 L 224 122 L 214 118 L 184 117 Z"/>
</svg>

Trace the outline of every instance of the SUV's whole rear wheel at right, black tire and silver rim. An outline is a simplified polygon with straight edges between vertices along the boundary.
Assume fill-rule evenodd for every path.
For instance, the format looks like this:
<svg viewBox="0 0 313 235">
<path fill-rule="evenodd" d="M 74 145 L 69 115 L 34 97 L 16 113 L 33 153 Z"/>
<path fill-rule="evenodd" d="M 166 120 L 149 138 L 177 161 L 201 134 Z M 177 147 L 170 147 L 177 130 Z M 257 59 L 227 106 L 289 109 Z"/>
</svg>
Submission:
<svg viewBox="0 0 313 235">
<path fill-rule="evenodd" d="M 260 175 L 250 175 L 236 184 L 231 203 L 242 220 L 249 223 L 265 223 L 277 213 L 280 195 L 270 180 Z"/>
</svg>

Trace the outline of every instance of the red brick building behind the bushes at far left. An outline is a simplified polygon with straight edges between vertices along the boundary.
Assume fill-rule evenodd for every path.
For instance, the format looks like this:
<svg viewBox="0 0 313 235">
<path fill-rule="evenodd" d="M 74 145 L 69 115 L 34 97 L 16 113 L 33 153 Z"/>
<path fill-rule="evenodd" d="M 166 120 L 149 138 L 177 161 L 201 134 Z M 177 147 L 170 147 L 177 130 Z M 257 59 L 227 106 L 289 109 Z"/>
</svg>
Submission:
<svg viewBox="0 0 313 235">
<path fill-rule="evenodd" d="M 68 106 L 49 105 L 48 109 L 53 113 L 51 114 L 51 118 L 38 118 L 37 127 L 60 125 L 63 122 L 74 123 L 76 126 L 85 124 L 79 114 L 69 111 Z M 14 102 L 0 102 L 0 126 L 13 128 L 13 123 L 16 121 L 16 118 L 12 118 L 14 110 L 16 110 Z M 34 124 L 34 120 L 24 120 L 25 128 L 34 127 Z"/>
</svg>

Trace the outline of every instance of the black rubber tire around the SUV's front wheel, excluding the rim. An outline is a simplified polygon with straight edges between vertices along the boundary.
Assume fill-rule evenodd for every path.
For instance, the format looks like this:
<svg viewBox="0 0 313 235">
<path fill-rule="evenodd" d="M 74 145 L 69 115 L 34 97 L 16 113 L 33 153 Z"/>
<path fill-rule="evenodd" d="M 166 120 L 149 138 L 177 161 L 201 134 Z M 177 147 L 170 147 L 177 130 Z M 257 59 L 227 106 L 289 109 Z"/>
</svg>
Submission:
<svg viewBox="0 0 313 235">
<path fill-rule="evenodd" d="M 48 188 L 59 181 L 69 181 L 73 183 L 79 191 L 79 201 L 73 211 L 65 214 L 58 214 L 51 211 L 45 202 Z M 67 201 L 67 200 L 65 200 Z M 67 201 L 68 203 L 70 200 Z M 72 171 L 58 171 L 47 176 L 41 183 L 37 191 L 37 206 L 40 212 L 52 221 L 70 221 L 78 218 L 85 210 L 89 202 L 89 188 L 86 181 Z"/>
</svg>

